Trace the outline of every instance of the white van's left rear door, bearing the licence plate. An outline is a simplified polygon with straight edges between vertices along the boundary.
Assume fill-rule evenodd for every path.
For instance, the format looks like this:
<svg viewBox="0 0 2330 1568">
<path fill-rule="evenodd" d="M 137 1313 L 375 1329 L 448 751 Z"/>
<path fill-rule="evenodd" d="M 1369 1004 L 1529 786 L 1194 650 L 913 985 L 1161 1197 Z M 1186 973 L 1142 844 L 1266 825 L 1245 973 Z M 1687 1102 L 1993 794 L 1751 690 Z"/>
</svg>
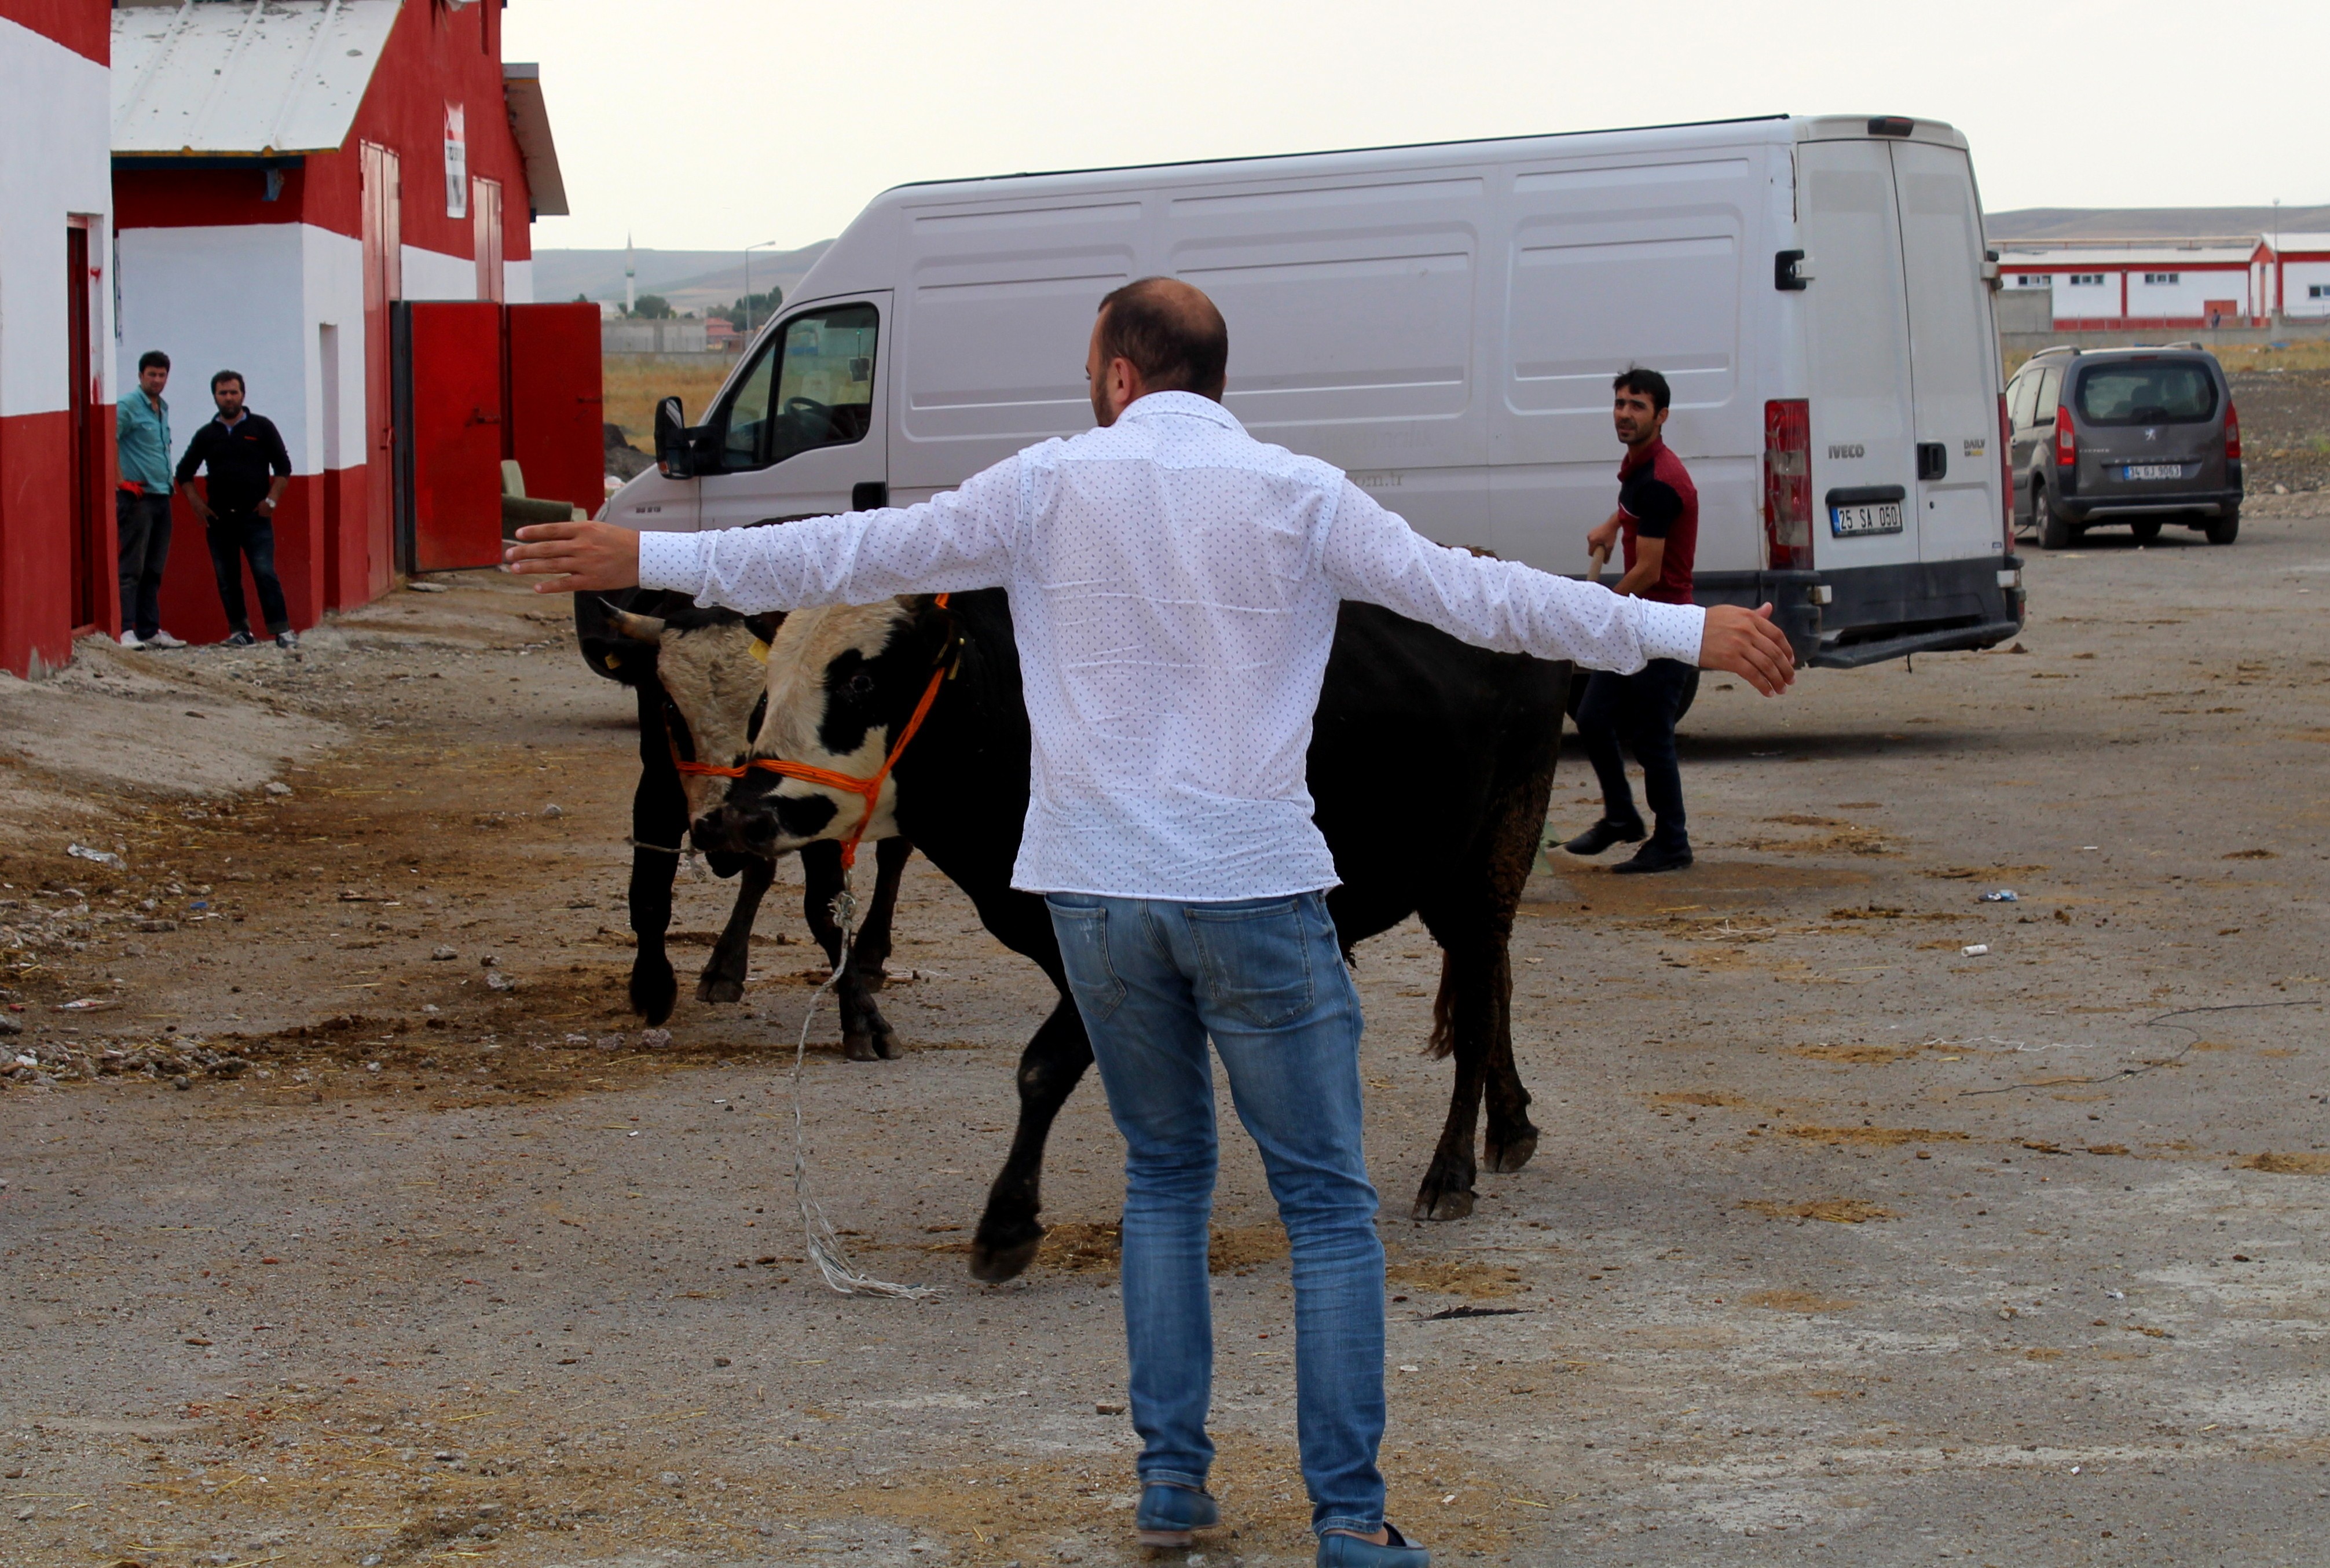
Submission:
<svg viewBox="0 0 2330 1568">
<path fill-rule="evenodd" d="M 1796 228 L 1813 273 L 1803 294 L 1813 566 L 1904 566 L 1918 559 L 1918 454 L 1901 219 L 1885 142 L 1799 142 Z"/>
</svg>

